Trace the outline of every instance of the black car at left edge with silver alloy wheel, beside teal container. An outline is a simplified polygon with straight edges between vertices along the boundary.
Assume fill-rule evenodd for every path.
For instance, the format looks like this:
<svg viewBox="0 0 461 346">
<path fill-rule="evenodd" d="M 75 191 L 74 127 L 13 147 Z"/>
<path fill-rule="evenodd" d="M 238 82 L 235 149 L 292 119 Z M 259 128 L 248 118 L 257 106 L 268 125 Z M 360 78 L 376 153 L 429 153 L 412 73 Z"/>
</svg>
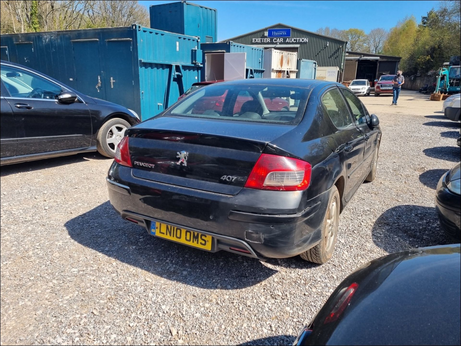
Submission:
<svg viewBox="0 0 461 346">
<path fill-rule="evenodd" d="M 1 61 L 1 164 L 98 151 L 114 157 L 139 117 L 28 67 Z"/>
</svg>

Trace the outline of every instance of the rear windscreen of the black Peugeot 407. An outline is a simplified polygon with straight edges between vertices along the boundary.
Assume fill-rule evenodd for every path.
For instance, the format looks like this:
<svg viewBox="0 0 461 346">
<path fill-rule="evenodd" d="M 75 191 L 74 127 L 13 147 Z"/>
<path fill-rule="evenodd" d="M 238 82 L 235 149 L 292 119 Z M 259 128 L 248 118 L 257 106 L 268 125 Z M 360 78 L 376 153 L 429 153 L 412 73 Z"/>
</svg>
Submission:
<svg viewBox="0 0 461 346">
<path fill-rule="evenodd" d="M 280 85 L 209 85 L 189 94 L 166 115 L 298 124 L 310 89 Z"/>
</svg>

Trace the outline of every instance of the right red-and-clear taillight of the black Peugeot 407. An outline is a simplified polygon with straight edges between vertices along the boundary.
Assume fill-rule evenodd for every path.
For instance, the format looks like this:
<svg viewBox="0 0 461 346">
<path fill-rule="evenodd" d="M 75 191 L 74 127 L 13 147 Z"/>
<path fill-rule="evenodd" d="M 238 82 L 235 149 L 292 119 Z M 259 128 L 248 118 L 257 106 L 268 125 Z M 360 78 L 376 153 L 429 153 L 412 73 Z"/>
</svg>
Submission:
<svg viewBox="0 0 461 346">
<path fill-rule="evenodd" d="M 278 191 L 305 190 L 311 182 L 311 172 L 312 166 L 306 161 L 261 154 L 244 187 Z"/>
</svg>

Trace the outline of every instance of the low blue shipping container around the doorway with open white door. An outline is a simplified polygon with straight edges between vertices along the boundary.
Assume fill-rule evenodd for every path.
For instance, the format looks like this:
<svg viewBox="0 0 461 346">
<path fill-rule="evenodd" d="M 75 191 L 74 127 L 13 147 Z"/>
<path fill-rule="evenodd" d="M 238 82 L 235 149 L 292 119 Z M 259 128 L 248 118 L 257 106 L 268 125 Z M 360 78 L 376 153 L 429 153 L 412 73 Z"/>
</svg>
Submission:
<svg viewBox="0 0 461 346">
<path fill-rule="evenodd" d="M 202 61 L 205 63 L 206 53 L 247 53 L 246 78 L 262 78 L 264 49 L 247 46 L 232 41 L 201 43 Z M 201 70 L 201 80 L 205 80 L 205 68 Z"/>
</svg>

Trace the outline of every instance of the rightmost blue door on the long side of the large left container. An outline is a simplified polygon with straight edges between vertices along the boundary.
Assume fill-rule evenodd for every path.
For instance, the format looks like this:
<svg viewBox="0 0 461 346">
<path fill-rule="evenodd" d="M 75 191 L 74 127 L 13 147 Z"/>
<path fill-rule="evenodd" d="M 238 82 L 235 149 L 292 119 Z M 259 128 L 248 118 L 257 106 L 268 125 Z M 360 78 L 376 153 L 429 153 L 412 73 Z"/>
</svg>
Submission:
<svg viewBox="0 0 461 346">
<path fill-rule="evenodd" d="M 135 107 L 133 54 L 131 39 L 106 41 L 106 100 L 118 105 Z"/>
</svg>

